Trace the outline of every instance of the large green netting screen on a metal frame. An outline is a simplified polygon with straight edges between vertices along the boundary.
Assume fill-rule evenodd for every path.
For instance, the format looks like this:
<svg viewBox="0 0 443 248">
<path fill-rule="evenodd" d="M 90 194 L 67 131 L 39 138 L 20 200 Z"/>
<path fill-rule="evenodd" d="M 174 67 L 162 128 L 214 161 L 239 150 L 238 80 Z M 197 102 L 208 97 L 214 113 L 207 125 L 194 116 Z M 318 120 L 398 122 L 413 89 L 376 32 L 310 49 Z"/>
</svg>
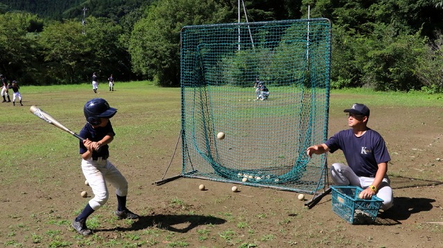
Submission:
<svg viewBox="0 0 443 248">
<path fill-rule="evenodd" d="M 330 49 L 327 19 L 184 27 L 182 175 L 323 188 L 326 155 L 309 159 L 306 149 L 327 137 Z M 256 78 L 269 89 L 265 100 L 257 100 Z"/>
</svg>

